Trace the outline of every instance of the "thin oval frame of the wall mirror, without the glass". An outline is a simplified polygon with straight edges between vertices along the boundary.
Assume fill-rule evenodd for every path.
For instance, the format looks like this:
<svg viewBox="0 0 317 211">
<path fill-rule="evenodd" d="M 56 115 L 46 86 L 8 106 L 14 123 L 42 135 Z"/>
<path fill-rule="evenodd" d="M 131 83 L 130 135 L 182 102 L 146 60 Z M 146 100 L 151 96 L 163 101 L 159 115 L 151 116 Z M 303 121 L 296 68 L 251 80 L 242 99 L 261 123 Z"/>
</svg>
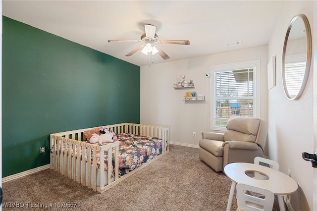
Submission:
<svg viewBox="0 0 317 211">
<path fill-rule="evenodd" d="M 290 32 L 292 29 L 293 24 L 295 23 L 296 20 L 301 19 L 305 25 L 305 31 L 306 31 L 306 61 L 305 61 L 305 72 L 304 72 L 304 77 L 303 77 L 303 81 L 301 83 L 301 86 L 298 90 L 298 93 L 296 95 L 290 95 L 289 94 L 289 90 L 286 84 L 286 79 L 285 79 L 285 57 L 286 57 L 286 47 L 287 47 L 287 43 L 288 43 L 288 39 L 290 36 Z M 304 27 L 304 26 L 303 26 Z M 309 72 L 310 72 L 310 68 L 311 68 L 311 62 L 312 62 L 312 33 L 311 33 L 311 27 L 309 24 L 309 21 L 307 19 L 307 17 L 304 14 L 299 14 L 296 15 L 295 17 L 293 17 L 293 19 L 291 20 L 287 32 L 286 32 L 286 36 L 285 36 L 285 41 L 284 41 L 284 46 L 283 46 L 283 57 L 282 57 L 282 79 L 283 79 L 283 87 L 284 87 L 284 92 L 286 97 L 289 100 L 297 100 L 301 97 L 301 95 L 303 94 L 306 84 L 307 84 L 307 80 L 308 80 L 308 76 L 309 76 Z"/>
</svg>

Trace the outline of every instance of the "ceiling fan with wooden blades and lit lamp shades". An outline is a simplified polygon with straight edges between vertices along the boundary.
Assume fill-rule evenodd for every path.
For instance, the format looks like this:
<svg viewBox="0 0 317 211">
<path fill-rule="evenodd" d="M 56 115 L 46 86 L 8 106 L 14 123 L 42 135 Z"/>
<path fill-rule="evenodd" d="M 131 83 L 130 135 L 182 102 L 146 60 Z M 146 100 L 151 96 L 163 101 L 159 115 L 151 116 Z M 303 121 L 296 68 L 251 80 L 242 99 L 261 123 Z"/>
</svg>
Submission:
<svg viewBox="0 0 317 211">
<path fill-rule="evenodd" d="M 145 33 L 141 35 L 141 40 L 108 40 L 109 43 L 143 43 L 143 45 L 138 46 L 134 50 L 132 50 L 130 53 L 126 54 L 125 56 L 131 56 L 134 53 L 140 51 L 148 55 L 154 55 L 156 53 L 159 53 L 159 55 L 163 59 L 169 59 L 169 56 L 157 45 L 160 44 L 177 44 L 177 45 L 189 45 L 188 40 L 159 40 L 159 36 L 155 33 L 156 32 L 156 26 L 145 24 L 144 30 Z"/>
</svg>

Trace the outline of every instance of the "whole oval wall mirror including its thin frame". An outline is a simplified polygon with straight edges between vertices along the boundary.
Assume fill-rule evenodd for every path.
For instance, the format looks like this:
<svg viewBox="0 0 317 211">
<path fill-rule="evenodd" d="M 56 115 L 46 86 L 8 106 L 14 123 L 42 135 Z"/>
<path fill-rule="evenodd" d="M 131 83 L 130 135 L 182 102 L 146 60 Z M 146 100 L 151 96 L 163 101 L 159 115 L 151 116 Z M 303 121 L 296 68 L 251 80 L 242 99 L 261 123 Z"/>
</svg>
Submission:
<svg viewBox="0 0 317 211">
<path fill-rule="evenodd" d="M 297 100 L 305 90 L 311 68 L 312 35 L 304 14 L 290 22 L 283 47 L 282 78 L 286 97 Z"/>
</svg>

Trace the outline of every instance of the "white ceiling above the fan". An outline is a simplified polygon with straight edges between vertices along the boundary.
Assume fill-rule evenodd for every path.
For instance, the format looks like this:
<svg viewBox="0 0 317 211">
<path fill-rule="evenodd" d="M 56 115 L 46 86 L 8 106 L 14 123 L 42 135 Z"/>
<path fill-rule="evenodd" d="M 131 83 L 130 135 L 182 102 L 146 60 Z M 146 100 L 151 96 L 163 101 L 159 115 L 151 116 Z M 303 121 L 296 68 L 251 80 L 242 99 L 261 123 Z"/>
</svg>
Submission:
<svg viewBox="0 0 317 211">
<path fill-rule="evenodd" d="M 3 0 L 4 16 L 67 40 L 144 66 L 141 52 L 125 56 L 139 43 L 144 24 L 157 27 L 160 40 L 189 40 L 190 45 L 159 44 L 170 58 L 159 54 L 153 63 L 267 45 L 276 19 L 282 14 L 277 0 Z M 285 32 L 286 33 L 286 32 Z M 241 41 L 241 45 L 225 47 Z"/>
</svg>

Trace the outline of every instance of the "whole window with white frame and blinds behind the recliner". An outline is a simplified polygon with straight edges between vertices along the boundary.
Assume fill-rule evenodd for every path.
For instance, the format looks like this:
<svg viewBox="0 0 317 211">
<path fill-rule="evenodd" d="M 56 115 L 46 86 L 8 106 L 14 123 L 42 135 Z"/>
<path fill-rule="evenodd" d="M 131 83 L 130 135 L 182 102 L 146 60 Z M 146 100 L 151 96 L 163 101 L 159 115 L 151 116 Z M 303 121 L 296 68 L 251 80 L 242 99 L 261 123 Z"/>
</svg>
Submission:
<svg viewBox="0 0 317 211">
<path fill-rule="evenodd" d="M 257 116 L 260 61 L 212 66 L 211 129 L 223 129 L 231 116 Z"/>
</svg>

